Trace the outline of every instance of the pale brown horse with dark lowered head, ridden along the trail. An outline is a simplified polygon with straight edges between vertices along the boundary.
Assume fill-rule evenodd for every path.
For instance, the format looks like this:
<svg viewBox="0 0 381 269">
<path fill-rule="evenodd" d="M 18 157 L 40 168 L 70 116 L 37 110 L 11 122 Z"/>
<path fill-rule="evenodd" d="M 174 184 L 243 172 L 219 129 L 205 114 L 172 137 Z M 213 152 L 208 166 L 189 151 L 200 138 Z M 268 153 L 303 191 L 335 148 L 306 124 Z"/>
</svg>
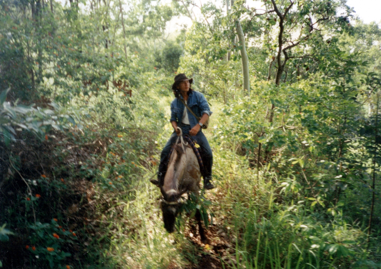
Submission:
<svg viewBox="0 0 381 269">
<path fill-rule="evenodd" d="M 182 195 L 186 192 L 199 195 L 201 180 L 200 165 L 196 154 L 189 143 L 184 142 L 181 128 L 178 127 L 178 129 L 180 135 L 169 157 L 164 184 L 159 186 L 162 193 L 160 209 L 163 213 L 164 227 L 169 233 L 174 231 L 176 216 L 183 203 Z M 157 182 L 155 181 L 155 183 Z M 205 241 L 206 237 L 201 225 L 201 214 L 198 209 L 195 217 L 198 222 L 201 240 Z"/>
</svg>

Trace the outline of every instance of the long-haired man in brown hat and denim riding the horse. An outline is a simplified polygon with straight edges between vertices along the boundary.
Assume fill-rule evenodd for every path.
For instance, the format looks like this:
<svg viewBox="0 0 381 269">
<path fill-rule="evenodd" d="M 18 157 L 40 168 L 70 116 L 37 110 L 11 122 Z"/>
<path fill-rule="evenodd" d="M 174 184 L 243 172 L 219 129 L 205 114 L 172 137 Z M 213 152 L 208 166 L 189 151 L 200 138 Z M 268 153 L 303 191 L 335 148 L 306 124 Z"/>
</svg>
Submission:
<svg viewBox="0 0 381 269">
<path fill-rule="evenodd" d="M 213 154 L 207 138 L 202 133 L 201 127 L 207 122 L 212 112 L 203 94 L 191 88 L 192 82 L 193 78 L 189 79 L 185 74 L 178 74 L 174 77 L 172 90 L 175 99 L 171 103 L 170 119 L 174 132 L 160 155 L 158 184 L 163 186 L 168 166 L 168 155 L 170 154 L 171 146 L 176 142 L 177 136 L 180 135 L 180 130 L 177 128 L 180 127 L 183 134 L 189 135 L 191 140 L 196 141 L 200 146 L 199 152 L 205 169 L 204 188 L 210 190 L 214 188 L 211 183 Z"/>
</svg>

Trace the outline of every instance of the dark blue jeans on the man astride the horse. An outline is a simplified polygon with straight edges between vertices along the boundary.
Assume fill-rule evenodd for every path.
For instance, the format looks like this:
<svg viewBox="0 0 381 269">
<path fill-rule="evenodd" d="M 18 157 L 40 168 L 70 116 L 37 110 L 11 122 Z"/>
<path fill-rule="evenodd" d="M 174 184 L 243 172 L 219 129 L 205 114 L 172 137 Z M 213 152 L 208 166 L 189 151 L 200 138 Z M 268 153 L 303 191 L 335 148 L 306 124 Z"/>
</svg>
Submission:
<svg viewBox="0 0 381 269">
<path fill-rule="evenodd" d="M 182 130 L 183 134 L 189 135 L 189 131 L 191 130 L 190 125 L 180 124 L 179 127 Z M 195 136 L 189 136 L 192 141 L 196 141 L 197 144 L 200 145 L 199 152 L 201 155 L 202 163 L 205 168 L 205 173 L 207 178 L 211 178 L 212 176 L 212 165 L 213 165 L 213 153 L 209 146 L 209 142 L 205 135 L 202 133 L 202 131 L 199 131 Z M 159 171 L 158 171 L 158 180 L 160 183 L 162 183 L 162 180 L 164 179 L 164 175 L 166 173 L 166 169 L 168 166 L 168 155 L 171 150 L 171 146 L 176 142 L 177 134 L 176 132 L 173 132 L 168 142 L 165 144 L 162 154 L 160 155 L 160 165 L 159 165 Z M 205 178 L 204 178 L 205 180 Z"/>
</svg>

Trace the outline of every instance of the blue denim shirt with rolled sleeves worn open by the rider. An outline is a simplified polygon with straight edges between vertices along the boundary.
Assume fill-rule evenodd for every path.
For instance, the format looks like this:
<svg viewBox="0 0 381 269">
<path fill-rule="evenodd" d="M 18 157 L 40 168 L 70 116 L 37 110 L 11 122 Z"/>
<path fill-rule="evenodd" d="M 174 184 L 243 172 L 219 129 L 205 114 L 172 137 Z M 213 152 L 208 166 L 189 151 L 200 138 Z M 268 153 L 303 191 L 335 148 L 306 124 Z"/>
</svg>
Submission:
<svg viewBox="0 0 381 269">
<path fill-rule="evenodd" d="M 182 96 L 180 95 L 180 98 Z M 213 113 L 210 111 L 207 99 L 203 96 L 202 93 L 198 91 L 191 91 L 188 96 L 187 105 L 192 109 L 193 113 L 197 115 L 197 117 L 202 117 L 203 114 L 208 114 L 209 116 Z M 180 124 L 182 121 L 182 113 L 184 112 L 184 104 L 175 98 L 171 103 L 171 119 L 170 121 L 175 121 L 177 124 Z M 199 123 L 197 118 L 192 115 L 191 112 L 187 109 L 189 124 L 191 128 L 193 128 L 196 124 Z"/>
</svg>

